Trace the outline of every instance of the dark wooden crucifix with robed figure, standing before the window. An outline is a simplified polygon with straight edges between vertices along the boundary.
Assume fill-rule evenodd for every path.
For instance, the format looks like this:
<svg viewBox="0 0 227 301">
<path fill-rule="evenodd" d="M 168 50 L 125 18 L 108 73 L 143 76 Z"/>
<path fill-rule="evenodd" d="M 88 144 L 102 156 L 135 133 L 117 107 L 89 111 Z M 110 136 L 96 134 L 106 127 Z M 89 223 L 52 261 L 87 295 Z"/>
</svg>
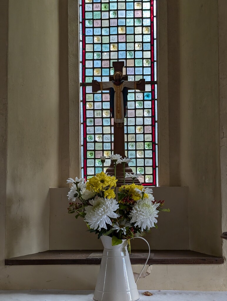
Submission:
<svg viewBox="0 0 227 301">
<path fill-rule="evenodd" d="M 145 91 L 145 79 L 139 81 L 128 81 L 128 76 L 123 76 L 124 62 L 113 62 L 114 74 L 110 76 L 109 82 L 92 81 L 92 92 L 110 90 L 110 112 L 114 119 L 113 127 L 113 153 L 125 157 L 125 133 L 124 117 L 126 116 L 128 89 Z M 131 173 L 132 169 L 125 165 L 126 172 Z M 112 164 L 107 169 L 109 174 L 114 174 Z M 121 164 L 117 165 L 118 186 L 122 185 L 123 170 Z"/>
</svg>

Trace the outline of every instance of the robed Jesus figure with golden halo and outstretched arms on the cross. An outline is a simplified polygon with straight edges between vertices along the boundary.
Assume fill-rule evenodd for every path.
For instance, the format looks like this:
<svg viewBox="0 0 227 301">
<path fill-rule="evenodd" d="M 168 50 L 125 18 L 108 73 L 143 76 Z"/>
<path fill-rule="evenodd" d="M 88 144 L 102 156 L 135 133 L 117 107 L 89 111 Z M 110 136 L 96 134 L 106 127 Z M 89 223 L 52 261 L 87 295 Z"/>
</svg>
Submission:
<svg viewBox="0 0 227 301">
<path fill-rule="evenodd" d="M 114 118 L 114 122 L 117 123 L 117 127 L 122 127 L 124 124 L 124 117 L 126 116 L 126 105 L 128 101 L 128 90 L 136 89 L 136 85 L 141 81 L 132 82 L 122 80 L 123 73 L 121 71 L 115 71 L 113 74 L 113 81 L 111 82 L 96 82 L 96 85 L 100 85 L 100 90 L 110 89 L 110 112 Z"/>
</svg>

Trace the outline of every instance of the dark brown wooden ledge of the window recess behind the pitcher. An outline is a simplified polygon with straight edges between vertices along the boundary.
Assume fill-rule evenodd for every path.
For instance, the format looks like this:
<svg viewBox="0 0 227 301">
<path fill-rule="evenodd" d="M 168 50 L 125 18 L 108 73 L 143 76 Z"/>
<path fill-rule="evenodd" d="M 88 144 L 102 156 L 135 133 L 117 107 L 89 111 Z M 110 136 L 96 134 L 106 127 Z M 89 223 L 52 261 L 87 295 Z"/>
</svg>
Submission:
<svg viewBox="0 0 227 301">
<path fill-rule="evenodd" d="M 49 250 L 45 252 L 5 259 L 5 265 L 93 265 L 100 264 L 102 250 Z M 146 250 L 133 250 L 132 264 L 144 264 Z M 151 250 L 148 264 L 221 264 L 216 257 L 189 250 Z"/>
</svg>

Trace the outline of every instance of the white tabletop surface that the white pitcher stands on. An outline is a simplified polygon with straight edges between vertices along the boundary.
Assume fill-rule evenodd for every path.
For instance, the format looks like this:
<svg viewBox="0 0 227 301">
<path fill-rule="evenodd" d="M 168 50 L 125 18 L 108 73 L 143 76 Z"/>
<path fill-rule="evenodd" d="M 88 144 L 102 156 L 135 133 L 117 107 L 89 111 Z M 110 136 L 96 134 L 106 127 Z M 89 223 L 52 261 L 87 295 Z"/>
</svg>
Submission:
<svg viewBox="0 0 227 301">
<path fill-rule="evenodd" d="M 227 292 L 154 290 L 152 296 L 139 291 L 139 301 L 227 301 Z M 92 291 L 0 290 L 0 301 L 92 301 Z"/>
</svg>

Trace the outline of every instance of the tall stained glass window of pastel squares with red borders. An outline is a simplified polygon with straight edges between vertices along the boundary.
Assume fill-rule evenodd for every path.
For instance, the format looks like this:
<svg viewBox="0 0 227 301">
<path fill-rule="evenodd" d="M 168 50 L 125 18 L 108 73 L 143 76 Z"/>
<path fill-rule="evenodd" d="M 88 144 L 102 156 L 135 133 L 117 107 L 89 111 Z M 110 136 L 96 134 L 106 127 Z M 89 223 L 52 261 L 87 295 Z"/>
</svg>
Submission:
<svg viewBox="0 0 227 301">
<path fill-rule="evenodd" d="M 146 80 L 145 92 L 128 91 L 125 153 L 143 185 L 158 183 L 157 36 L 155 0 L 80 0 L 81 168 L 101 172 L 100 156 L 113 154 L 108 91 L 92 93 L 92 80 L 109 81 L 123 61 L 129 81 Z M 106 160 L 106 169 L 110 160 Z"/>
</svg>

